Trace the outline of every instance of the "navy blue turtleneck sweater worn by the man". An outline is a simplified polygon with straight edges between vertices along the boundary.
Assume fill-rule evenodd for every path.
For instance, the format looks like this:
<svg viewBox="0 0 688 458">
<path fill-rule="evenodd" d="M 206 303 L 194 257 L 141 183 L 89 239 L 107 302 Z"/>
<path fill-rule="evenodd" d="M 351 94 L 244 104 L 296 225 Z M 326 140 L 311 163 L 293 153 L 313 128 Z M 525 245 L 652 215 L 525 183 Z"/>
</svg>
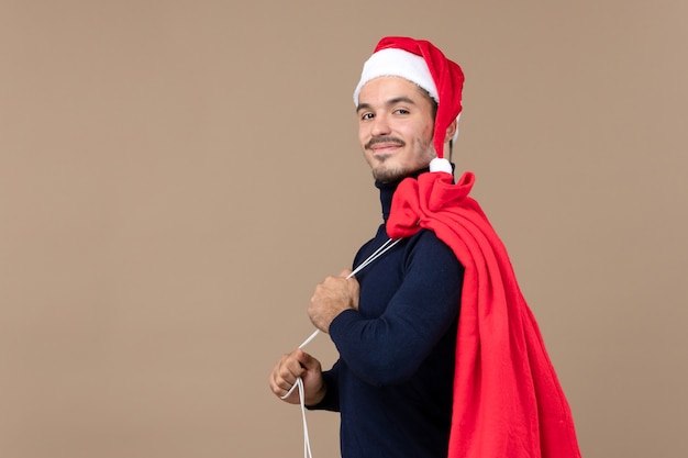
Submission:
<svg viewBox="0 0 688 458">
<path fill-rule="evenodd" d="M 387 221 L 397 185 L 380 189 Z M 354 267 L 388 239 L 385 224 Z M 311 409 L 341 412 L 342 458 L 444 458 L 452 417 L 464 269 L 430 231 L 399 242 L 356 275 L 358 311 L 330 325 L 340 359 Z"/>
</svg>

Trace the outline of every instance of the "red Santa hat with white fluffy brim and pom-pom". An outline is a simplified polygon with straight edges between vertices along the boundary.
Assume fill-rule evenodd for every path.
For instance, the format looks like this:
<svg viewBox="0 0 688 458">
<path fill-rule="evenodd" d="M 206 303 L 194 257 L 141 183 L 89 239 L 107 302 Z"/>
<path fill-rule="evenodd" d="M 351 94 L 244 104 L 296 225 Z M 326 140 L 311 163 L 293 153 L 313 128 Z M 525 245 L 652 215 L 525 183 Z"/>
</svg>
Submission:
<svg viewBox="0 0 688 458">
<path fill-rule="evenodd" d="M 464 72 L 458 64 L 447 59 L 442 51 L 425 40 L 387 36 L 380 40 L 370 58 L 366 60 L 354 103 L 358 105 L 360 88 L 369 80 L 382 76 L 397 76 L 417 83 L 437 102 L 433 145 L 437 158 L 430 164 L 431 171 L 452 174 L 452 165 L 444 158 L 444 136 L 450 124 L 460 116 Z M 454 141 L 458 129 L 454 134 Z"/>
</svg>

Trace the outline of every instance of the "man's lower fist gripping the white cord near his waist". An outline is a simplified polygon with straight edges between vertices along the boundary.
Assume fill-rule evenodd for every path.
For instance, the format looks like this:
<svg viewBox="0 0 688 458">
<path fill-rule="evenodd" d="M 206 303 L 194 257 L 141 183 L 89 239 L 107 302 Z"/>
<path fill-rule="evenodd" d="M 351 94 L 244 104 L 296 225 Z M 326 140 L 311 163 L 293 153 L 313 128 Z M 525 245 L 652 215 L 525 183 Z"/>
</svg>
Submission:
<svg viewBox="0 0 688 458">
<path fill-rule="evenodd" d="M 322 401 L 326 387 L 322 379 L 320 361 L 299 348 L 288 355 L 282 355 L 277 361 L 269 378 L 270 389 L 281 399 L 299 377 L 303 380 L 306 405 L 315 405 Z M 293 390 L 284 401 L 298 404 L 299 391 Z"/>
</svg>

